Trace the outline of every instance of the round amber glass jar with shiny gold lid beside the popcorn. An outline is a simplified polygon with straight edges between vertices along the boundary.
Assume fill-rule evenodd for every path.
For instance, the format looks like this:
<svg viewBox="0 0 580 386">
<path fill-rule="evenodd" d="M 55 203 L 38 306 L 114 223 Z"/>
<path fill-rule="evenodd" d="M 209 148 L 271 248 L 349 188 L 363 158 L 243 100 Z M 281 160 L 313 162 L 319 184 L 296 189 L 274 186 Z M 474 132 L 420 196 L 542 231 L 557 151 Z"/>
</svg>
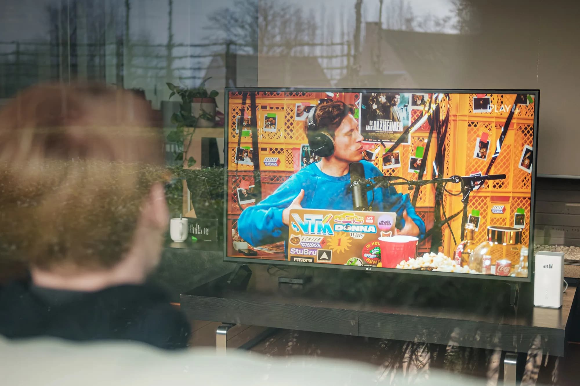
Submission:
<svg viewBox="0 0 580 386">
<path fill-rule="evenodd" d="M 487 227 L 487 241 L 478 245 L 474 250 L 469 268 L 481 272 L 484 256 L 491 256 L 491 267 L 495 267 L 499 260 L 509 260 L 512 270 L 521 260 L 521 229 L 513 227 Z M 527 258 L 525 259 L 527 260 Z M 524 264 L 525 265 L 525 264 Z"/>
</svg>

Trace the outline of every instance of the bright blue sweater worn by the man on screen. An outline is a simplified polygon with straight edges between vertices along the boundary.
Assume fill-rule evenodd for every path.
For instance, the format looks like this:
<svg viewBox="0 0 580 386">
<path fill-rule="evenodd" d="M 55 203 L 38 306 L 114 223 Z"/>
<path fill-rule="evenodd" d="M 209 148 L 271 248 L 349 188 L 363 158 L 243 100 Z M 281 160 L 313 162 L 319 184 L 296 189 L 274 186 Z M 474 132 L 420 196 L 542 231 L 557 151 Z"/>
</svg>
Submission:
<svg viewBox="0 0 580 386">
<path fill-rule="evenodd" d="M 361 161 L 364 166 L 365 178 L 382 176 L 380 170 L 368 161 Z M 260 246 L 288 239 L 288 227 L 282 223 L 282 211 L 304 189 L 302 207 L 311 209 L 352 210 L 353 197 L 349 191 L 350 173 L 342 177 L 333 177 L 322 173 L 316 163 L 311 163 L 298 173 L 293 174 L 273 194 L 256 205 L 249 206 L 238 219 L 238 233 L 250 245 Z M 369 205 L 376 212 L 396 212 L 396 227 L 400 230 L 405 226 L 403 211 L 419 228 L 419 237 L 425 235 L 425 223 L 415 213 L 408 194 L 397 193 L 394 187 L 389 190 L 375 188 L 375 199 L 372 192 L 367 193 Z"/>
</svg>

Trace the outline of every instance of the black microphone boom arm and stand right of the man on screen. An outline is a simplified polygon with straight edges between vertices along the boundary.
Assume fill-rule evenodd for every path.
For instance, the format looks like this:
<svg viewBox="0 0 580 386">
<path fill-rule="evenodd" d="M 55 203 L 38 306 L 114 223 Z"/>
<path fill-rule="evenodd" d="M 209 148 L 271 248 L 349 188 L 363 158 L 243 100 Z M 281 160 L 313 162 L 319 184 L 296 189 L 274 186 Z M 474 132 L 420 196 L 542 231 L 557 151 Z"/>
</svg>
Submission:
<svg viewBox="0 0 580 386">
<path fill-rule="evenodd" d="M 409 190 L 414 189 L 415 187 L 422 187 L 429 184 L 439 184 L 439 183 L 453 183 L 453 184 L 461 184 L 461 202 L 463 203 L 463 216 L 461 219 L 461 229 L 465 228 L 465 224 L 467 223 L 467 206 L 469 205 L 469 196 L 471 195 L 472 191 L 475 190 L 477 187 L 477 183 L 483 183 L 483 181 L 487 180 L 503 180 L 506 178 L 505 174 L 490 174 L 490 175 L 481 175 L 477 174 L 475 176 L 451 176 L 447 179 L 440 179 L 434 178 L 432 180 L 419 180 L 419 181 L 412 181 L 404 179 L 403 177 L 396 177 L 396 176 L 377 176 L 372 177 L 368 180 L 357 180 L 353 181 L 353 184 L 362 185 L 362 189 L 366 191 L 373 190 L 374 188 L 389 188 L 391 186 L 399 186 L 399 185 L 407 185 Z M 404 180 L 398 181 L 397 180 Z M 353 185 L 351 184 L 351 186 Z M 448 224 L 449 221 L 454 219 L 455 216 L 449 217 L 447 220 L 441 223 L 441 227 L 443 225 Z M 461 241 L 465 239 L 465 232 L 461 232 Z"/>
</svg>

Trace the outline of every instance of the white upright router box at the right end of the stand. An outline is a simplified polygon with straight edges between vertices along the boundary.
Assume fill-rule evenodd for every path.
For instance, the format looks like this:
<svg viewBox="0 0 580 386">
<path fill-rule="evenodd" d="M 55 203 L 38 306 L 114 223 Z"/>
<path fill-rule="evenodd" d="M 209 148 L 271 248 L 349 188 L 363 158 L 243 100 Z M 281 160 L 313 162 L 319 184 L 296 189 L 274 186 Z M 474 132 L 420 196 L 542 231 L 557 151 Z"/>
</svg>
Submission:
<svg viewBox="0 0 580 386">
<path fill-rule="evenodd" d="M 562 307 L 564 253 L 537 252 L 534 261 L 534 305 L 549 308 Z"/>
</svg>

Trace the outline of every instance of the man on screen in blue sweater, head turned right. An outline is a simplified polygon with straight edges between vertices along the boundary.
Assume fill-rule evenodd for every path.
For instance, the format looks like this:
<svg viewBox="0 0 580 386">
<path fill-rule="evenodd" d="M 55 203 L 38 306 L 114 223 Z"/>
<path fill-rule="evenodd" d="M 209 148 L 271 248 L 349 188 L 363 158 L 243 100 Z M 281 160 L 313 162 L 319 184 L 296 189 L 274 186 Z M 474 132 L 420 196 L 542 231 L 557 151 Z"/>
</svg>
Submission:
<svg viewBox="0 0 580 386">
<path fill-rule="evenodd" d="M 317 129 L 324 129 L 334 141 L 333 154 L 300 169 L 256 205 L 247 207 L 238 219 L 240 236 L 253 246 L 285 240 L 291 209 L 352 210 L 349 165 L 361 162 L 365 178 L 382 176 L 380 170 L 362 160 L 362 136 L 354 109 L 343 101 L 324 102 L 314 114 Z M 307 127 L 307 121 L 305 122 Z M 378 212 L 397 213 L 397 234 L 425 235 L 425 223 L 415 213 L 408 194 L 397 193 L 394 187 L 376 188 L 368 192 L 368 202 Z"/>
</svg>

